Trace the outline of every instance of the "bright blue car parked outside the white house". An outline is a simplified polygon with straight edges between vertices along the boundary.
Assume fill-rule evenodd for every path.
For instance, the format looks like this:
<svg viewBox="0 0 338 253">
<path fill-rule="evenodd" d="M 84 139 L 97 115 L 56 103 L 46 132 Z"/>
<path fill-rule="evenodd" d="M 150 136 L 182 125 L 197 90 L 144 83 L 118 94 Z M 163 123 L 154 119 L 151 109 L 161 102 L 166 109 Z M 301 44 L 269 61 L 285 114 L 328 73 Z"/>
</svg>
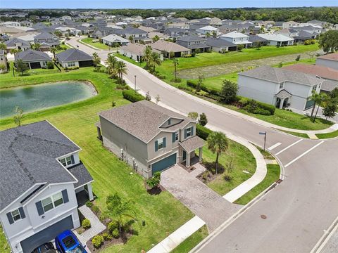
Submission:
<svg viewBox="0 0 338 253">
<path fill-rule="evenodd" d="M 87 253 L 81 242 L 70 230 L 63 231 L 55 238 L 56 249 L 61 253 Z"/>
</svg>

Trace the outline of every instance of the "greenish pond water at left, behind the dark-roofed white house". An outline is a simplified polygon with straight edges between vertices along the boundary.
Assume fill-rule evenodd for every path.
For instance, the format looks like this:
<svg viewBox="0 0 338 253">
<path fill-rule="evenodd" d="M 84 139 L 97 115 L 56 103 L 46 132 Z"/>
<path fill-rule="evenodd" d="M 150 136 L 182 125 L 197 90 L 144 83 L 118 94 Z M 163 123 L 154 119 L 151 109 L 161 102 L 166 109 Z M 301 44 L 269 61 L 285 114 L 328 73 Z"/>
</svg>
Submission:
<svg viewBox="0 0 338 253">
<path fill-rule="evenodd" d="M 19 106 L 24 113 L 35 112 L 95 95 L 94 86 L 75 81 L 0 89 L 0 118 L 14 115 L 16 106 Z"/>
</svg>

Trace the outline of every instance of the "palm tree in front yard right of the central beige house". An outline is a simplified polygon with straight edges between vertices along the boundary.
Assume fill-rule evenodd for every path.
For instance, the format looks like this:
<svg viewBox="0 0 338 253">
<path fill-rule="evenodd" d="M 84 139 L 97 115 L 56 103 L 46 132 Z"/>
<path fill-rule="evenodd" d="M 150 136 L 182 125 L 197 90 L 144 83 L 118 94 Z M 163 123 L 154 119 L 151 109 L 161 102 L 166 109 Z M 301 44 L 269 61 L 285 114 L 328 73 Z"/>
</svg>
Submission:
<svg viewBox="0 0 338 253">
<path fill-rule="evenodd" d="M 206 139 L 208 143 L 208 149 L 211 150 L 213 153 L 216 153 L 216 174 L 218 173 L 218 158 L 220 157 L 221 153 L 224 153 L 227 150 L 229 145 L 227 141 L 227 136 L 220 131 L 213 131 L 209 134 L 208 138 Z"/>
</svg>

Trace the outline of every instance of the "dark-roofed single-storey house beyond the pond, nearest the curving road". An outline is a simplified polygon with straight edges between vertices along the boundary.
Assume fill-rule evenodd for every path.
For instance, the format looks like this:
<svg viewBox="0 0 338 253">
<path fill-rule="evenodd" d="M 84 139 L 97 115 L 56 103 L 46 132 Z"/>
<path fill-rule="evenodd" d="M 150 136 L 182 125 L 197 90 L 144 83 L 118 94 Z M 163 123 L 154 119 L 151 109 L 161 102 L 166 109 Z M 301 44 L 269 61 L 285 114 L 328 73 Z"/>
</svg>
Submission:
<svg viewBox="0 0 338 253">
<path fill-rule="evenodd" d="M 69 48 L 55 55 L 62 67 L 89 67 L 93 65 L 93 57 L 77 48 Z"/>
</svg>

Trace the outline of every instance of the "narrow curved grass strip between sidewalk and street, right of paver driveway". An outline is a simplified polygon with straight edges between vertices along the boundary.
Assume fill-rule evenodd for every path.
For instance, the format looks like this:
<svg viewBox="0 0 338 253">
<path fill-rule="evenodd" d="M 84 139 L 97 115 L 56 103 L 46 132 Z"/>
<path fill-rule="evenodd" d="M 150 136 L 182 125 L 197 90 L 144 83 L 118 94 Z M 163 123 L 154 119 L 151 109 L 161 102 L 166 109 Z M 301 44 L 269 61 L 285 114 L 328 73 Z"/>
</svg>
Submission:
<svg viewBox="0 0 338 253">
<path fill-rule="evenodd" d="M 268 173 L 266 174 L 265 179 L 257 186 L 252 188 L 248 193 L 244 194 L 242 197 L 239 197 L 239 199 L 235 201 L 236 204 L 248 204 L 251 200 L 253 200 L 254 197 L 258 196 L 263 192 L 263 190 L 271 186 L 273 182 L 280 179 L 280 165 L 267 164 L 266 167 L 268 169 Z"/>
</svg>

